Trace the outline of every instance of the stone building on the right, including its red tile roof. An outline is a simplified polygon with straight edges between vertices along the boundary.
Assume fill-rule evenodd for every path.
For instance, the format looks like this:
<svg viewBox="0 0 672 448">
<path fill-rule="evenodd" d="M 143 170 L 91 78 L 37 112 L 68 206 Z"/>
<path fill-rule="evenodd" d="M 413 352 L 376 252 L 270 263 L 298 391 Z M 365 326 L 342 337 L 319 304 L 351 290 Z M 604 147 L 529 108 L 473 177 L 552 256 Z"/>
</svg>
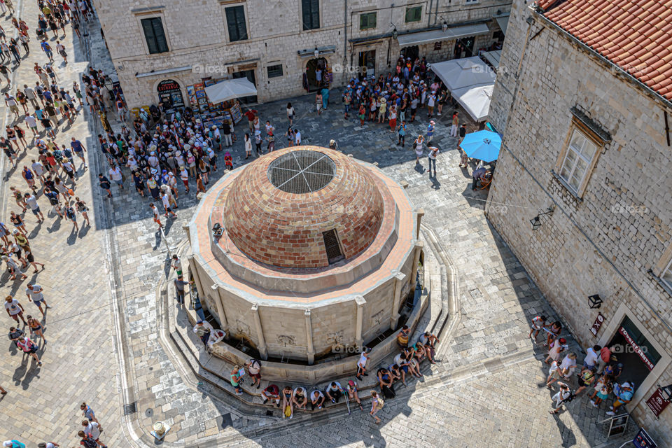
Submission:
<svg viewBox="0 0 672 448">
<path fill-rule="evenodd" d="M 672 384 L 672 92 L 661 76 L 672 66 L 657 63 L 671 50 L 653 29 L 652 59 L 630 57 L 639 48 L 601 42 L 605 28 L 575 28 L 572 2 L 514 2 L 490 109 L 503 149 L 486 214 L 577 340 L 619 347 L 620 380 L 636 385 L 629 412 L 669 446 L 672 408 L 657 419 L 647 400 Z M 647 13 L 672 29 L 670 15 Z"/>
</svg>

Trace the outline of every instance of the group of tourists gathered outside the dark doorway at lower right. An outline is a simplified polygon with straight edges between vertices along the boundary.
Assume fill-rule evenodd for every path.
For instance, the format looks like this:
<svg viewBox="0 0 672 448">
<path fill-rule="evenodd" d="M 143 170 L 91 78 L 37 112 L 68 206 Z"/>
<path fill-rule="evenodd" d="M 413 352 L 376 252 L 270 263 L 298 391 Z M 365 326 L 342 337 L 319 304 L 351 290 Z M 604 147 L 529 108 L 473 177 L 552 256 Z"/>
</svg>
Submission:
<svg viewBox="0 0 672 448">
<path fill-rule="evenodd" d="M 546 387 L 555 391 L 557 381 L 559 390 L 553 395 L 551 414 L 557 414 L 563 405 L 577 398 L 587 390 L 593 407 L 600 407 L 601 402 L 613 398 L 606 414 L 614 416 L 622 405 L 632 400 L 635 384 L 632 381 L 619 383 L 623 373 L 623 364 L 619 363 L 613 347 L 594 345 L 586 349 L 586 356 L 580 367 L 577 366 L 577 353 L 569 351 L 567 340 L 561 337 L 562 323 L 547 322 L 546 316 L 535 316 L 532 320 L 529 337 L 538 343 L 542 332 L 544 346 L 547 349 L 545 363 L 549 365 Z M 576 373 L 574 375 L 574 373 Z M 577 387 L 573 390 L 568 383 L 576 379 Z M 564 381 L 560 381 L 564 380 Z"/>
</svg>

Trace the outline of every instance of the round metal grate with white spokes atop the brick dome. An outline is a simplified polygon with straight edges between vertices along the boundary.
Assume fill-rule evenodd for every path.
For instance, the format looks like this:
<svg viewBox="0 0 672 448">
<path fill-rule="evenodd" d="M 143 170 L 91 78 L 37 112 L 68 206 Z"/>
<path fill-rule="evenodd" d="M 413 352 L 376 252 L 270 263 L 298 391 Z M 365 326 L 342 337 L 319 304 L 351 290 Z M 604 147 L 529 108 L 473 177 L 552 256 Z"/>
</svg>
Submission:
<svg viewBox="0 0 672 448">
<path fill-rule="evenodd" d="M 274 187 L 297 195 L 325 188 L 335 174 L 336 165 L 328 155 L 305 149 L 283 154 L 268 167 Z"/>
</svg>

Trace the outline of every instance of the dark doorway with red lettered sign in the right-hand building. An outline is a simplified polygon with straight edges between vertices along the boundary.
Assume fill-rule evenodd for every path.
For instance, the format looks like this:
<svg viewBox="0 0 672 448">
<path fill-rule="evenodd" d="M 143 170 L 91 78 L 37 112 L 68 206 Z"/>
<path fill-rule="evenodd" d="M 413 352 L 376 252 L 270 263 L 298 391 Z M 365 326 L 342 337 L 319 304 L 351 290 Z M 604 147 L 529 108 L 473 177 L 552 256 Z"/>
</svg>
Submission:
<svg viewBox="0 0 672 448">
<path fill-rule="evenodd" d="M 628 381 L 639 386 L 661 358 L 628 317 L 623 319 L 608 346 L 612 348 L 617 362 L 623 365 L 623 372 L 618 378 L 621 384 Z"/>
</svg>

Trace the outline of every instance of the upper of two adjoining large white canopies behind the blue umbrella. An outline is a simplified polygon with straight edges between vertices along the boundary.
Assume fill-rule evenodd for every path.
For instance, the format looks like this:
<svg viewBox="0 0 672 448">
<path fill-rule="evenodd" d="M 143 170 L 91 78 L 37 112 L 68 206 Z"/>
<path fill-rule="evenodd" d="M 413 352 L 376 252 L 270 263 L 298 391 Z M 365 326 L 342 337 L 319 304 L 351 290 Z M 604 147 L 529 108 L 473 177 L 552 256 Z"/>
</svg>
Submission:
<svg viewBox="0 0 672 448">
<path fill-rule="evenodd" d="M 472 85 L 495 83 L 493 69 L 478 56 L 437 62 L 431 64 L 430 68 L 451 92 Z"/>
</svg>

